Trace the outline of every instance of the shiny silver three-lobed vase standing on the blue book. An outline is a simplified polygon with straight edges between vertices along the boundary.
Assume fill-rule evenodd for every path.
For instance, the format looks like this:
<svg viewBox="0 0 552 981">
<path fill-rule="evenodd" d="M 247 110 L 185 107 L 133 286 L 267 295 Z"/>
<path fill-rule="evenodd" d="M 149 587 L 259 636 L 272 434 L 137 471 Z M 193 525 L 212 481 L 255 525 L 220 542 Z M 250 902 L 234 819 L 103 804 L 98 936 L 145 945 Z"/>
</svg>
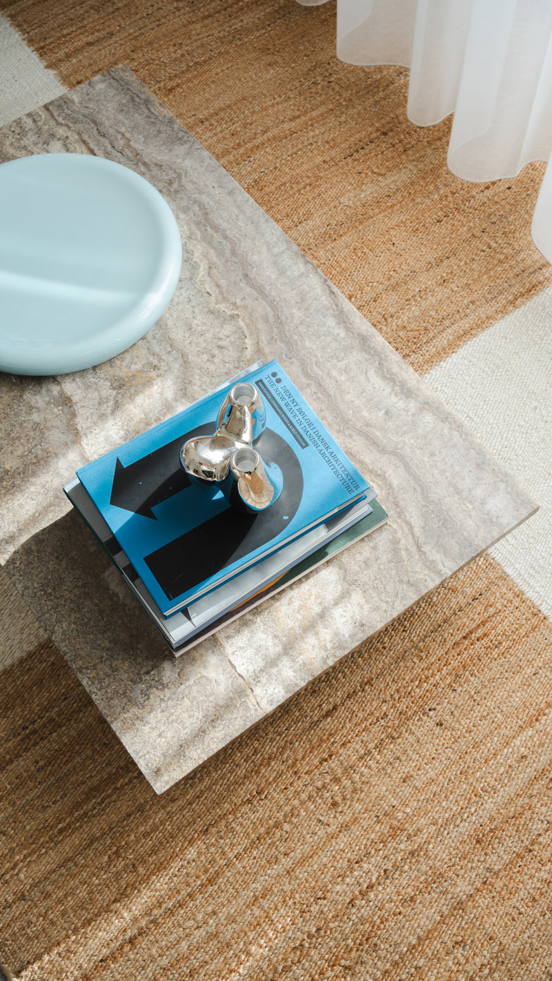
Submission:
<svg viewBox="0 0 552 981">
<path fill-rule="evenodd" d="M 281 490 L 276 490 L 251 445 L 265 424 L 265 408 L 257 388 L 249 382 L 237 382 L 221 406 L 213 436 L 188 439 L 182 446 L 184 470 L 195 483 L 221 485 L 230 504 L 240 510 L 265 510 Z"/>
</svg>

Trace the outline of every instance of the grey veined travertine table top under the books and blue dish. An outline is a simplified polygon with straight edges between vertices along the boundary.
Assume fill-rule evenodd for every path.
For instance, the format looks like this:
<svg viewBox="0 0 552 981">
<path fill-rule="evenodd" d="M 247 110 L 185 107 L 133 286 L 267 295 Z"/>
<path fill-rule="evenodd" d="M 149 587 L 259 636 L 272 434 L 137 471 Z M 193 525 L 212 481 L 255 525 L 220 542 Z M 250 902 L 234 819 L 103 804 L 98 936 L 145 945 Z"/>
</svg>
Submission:
<svg viewBox="0 0 552 981">
<path fill-rule="evenodd" d="M 0 375 L 0 561 L 157 793 L 525 520 L 527 493 L 125 67 L 0 130 L 2 160 L 92 153 L 166 197 L 180 281 L 123 354 Z M 175 658 L 71 510 L 75 469 L 276 358 L 389 522 Z"/>
</svg>

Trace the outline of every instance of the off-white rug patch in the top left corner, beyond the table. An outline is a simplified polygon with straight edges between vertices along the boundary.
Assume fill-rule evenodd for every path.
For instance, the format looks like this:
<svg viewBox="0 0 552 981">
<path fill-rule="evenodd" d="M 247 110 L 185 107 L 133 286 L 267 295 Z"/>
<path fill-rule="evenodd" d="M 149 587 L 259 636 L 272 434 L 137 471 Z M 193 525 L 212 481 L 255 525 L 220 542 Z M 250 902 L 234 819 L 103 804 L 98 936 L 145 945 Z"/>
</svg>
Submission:
<svg viewBox="0 0 552 981">
<path fill-rule="evenodd" d="M 0 126 L 43 106 L 67 89 L 8 18 L 0 14 Z"/>
</svg>

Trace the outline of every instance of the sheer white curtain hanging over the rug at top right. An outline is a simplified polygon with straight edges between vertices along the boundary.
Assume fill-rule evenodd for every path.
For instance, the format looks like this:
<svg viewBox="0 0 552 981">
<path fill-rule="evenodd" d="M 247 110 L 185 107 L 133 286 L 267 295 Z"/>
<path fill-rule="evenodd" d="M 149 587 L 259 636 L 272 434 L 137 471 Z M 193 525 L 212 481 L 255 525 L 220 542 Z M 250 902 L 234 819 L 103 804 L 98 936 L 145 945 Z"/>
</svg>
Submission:
<svg viewBox="0 0 552 981">
<path fill-rule="evenodd" d="M 447 162 L 466 181 L 552 156 L 552 0 L 337 0 L 337 55 L 410 68 L 408 118 L 454 113 Z M 552 262 L 552 163 L 531 232 Z"/>
</svg>

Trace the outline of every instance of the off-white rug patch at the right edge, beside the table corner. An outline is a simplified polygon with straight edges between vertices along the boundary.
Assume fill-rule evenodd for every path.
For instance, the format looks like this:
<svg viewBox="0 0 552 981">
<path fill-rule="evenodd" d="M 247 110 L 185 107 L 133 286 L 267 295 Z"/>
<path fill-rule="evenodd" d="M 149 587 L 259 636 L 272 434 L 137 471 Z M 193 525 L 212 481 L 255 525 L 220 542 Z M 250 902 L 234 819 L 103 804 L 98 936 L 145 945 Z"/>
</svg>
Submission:
<svg viewBox="0 0 552 981">
<path fill-rule="evenodd" d="M 490 551 L 552 618 L 552 288 L 469 341 L 426 381 L 540 505 Z"/>
</svg>

